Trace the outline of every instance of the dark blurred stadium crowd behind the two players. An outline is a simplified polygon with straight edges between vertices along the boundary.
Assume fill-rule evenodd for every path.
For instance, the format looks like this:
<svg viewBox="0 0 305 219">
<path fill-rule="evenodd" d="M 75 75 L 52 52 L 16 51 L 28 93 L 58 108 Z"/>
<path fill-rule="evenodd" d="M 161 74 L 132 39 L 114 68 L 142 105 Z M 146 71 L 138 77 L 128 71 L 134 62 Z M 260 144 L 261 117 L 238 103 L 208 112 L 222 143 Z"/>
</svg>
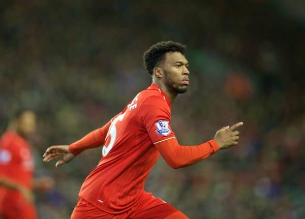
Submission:
<svg viewBox="0 0 305 219">
<path fill-rule="evenodd" d="M 37 112 L 40 218 L 69 218 L 100 159 L 55 169 L 41 155 L 102 126 L 150 84 L 142 54 L 188 45 L 191 83 L 172 109 L 181 144 L 243 121 L 239 146 L 192 167 L 163 159 L 146 190 L 190 218 L 305 218 L 305 3 L 299 1 L 1 1 L 0 131 L 19 107 Z"/>
</svg>

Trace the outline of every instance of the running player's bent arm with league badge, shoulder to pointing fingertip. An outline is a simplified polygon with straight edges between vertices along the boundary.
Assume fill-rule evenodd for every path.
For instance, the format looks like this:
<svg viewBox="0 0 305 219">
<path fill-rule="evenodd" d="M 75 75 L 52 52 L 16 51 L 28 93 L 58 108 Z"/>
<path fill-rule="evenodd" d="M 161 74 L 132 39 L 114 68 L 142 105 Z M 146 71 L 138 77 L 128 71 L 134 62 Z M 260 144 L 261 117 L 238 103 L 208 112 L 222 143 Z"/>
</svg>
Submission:
<svg viewBox="0 0 305 219">
<path fill-rule="evenodd" d="M 242 122 L 231 128 L 219 130 L 215 139 L 203 144 L 180 145 L 170 127 L 170 108 L 160 96 L 151 96 L 145 99 L 139 109 L 139 122 L 145 127 L 151 142 L 161 153 L 166 163 L 172 168 L 181 168 L 195 164 L 215 153 L 237 144 L 238 132 L 234 129 Z"/>
</svg>

